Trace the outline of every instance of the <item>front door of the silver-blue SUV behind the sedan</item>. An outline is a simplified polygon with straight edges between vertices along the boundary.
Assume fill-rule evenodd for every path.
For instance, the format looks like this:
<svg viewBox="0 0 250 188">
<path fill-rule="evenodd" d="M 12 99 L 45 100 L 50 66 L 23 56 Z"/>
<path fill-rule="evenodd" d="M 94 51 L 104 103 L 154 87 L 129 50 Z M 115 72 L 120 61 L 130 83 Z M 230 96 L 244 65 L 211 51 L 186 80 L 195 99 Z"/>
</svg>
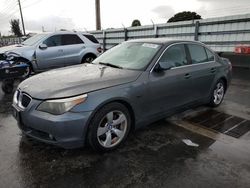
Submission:
<svg viewBox="0 0 250 188">
<path fill-rule="evenodd" d="M 62 35 L 53 35 L 43 41 L 46 49 L 36 50 L 36 59 L 39 69 L 51 69 L 64 66 Z"/>
</svg>

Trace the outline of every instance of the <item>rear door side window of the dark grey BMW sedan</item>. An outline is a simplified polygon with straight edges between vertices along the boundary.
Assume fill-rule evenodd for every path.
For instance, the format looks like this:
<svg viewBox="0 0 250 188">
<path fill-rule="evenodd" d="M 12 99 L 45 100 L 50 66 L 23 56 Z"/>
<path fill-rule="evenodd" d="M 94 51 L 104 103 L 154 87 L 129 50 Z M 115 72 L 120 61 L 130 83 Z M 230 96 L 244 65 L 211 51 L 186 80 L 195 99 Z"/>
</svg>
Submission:
<svg viewBox="0 0 250 188">
<path fill-rule="evenodd" d="M 193 64 L 207 62 L 207 53 L 203 46 L 197 44 L 188 44 L 188 49 Z"/>
</svg>

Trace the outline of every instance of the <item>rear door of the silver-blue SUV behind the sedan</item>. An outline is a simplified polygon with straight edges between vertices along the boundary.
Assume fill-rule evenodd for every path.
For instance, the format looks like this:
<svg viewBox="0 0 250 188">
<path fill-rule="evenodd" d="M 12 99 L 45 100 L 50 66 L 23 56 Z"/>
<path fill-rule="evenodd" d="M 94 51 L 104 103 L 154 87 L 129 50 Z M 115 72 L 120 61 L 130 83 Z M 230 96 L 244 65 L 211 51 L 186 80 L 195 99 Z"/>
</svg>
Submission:
<svg viewBox="0 0 250 188">
<path fill-rule="evenodd" d="M 85 44 L 77 34 L 62 35 L 62 45 L 65 65 L 81 63 L 81 54 L 85 49 Z"/>
</svg>

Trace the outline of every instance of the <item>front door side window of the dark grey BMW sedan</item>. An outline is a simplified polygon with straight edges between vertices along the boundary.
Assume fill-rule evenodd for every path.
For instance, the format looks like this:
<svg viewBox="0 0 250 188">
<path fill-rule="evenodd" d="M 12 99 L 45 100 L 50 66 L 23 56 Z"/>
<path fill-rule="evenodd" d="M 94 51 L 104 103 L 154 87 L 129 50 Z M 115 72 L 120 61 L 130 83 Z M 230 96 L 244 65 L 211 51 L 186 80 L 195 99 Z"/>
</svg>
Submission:
<svg viewBox="0 0 250 188">
<path fill-rule="evenodd" d="M 184 44 L 176 44 L 167 49 L 160 59 L 161 63 L 166 63 L 166 67 L 179 67 L 187 65 L 187 56 Z"/>
</svg>

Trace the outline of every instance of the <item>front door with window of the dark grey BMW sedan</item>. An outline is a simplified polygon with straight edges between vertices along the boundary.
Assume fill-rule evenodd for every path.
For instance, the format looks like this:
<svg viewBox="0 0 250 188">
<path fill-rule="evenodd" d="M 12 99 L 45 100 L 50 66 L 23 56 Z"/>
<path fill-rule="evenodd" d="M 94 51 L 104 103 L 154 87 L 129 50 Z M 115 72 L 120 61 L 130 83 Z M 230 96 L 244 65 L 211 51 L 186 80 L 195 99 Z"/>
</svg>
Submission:
<svg viewBox="0 0 250 188">
<path fill-rule="evenodd" d="M 161 114 L 192 101 L 192 70 L 184 44 L 169 47 L 159 59 L 169 70 L 149 74 L 148 113 Z M 157 65 L 156 65 L 157 66 Z"/>
</svg>

